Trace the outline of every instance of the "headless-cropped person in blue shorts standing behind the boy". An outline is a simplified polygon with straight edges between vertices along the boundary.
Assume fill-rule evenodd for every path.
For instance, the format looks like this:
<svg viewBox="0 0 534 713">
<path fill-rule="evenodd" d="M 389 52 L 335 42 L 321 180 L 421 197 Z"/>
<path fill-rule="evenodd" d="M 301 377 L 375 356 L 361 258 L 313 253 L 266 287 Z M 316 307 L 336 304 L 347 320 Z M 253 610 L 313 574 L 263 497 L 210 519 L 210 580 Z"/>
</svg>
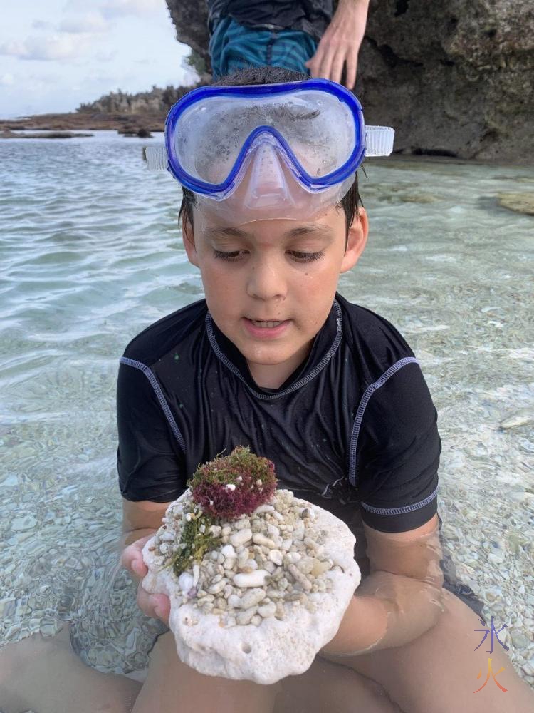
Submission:
<svg viewBox="0 0 534 713">
<path fill-rule="evenodd" d="M 369 0 L 208 0 L 214 79 L 273 66 L 355 86 Z"/>
</svg>

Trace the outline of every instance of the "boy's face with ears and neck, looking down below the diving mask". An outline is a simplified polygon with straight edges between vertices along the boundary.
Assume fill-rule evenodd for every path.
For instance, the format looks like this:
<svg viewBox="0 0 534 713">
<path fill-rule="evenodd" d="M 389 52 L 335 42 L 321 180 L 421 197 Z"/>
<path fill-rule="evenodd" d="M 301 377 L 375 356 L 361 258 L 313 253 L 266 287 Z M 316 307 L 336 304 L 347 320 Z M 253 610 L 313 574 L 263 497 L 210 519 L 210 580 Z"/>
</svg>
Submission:
<svg viewBox="0 0 534 713">
<path fill-rule="evenodd" d="M 367 240 L 359 210 L 345 251 L 345 212 L 297 220 L 229 226 L 200 207 L 184 225 L 189 262 L 201 271 L 217 327 L 245 357 L 258 386 L 278 388 L 308 356 L 325 323 L 341 272 L 353 267 Z M 252 320 L 280 321 L 257 327 Z"/>
</svg>

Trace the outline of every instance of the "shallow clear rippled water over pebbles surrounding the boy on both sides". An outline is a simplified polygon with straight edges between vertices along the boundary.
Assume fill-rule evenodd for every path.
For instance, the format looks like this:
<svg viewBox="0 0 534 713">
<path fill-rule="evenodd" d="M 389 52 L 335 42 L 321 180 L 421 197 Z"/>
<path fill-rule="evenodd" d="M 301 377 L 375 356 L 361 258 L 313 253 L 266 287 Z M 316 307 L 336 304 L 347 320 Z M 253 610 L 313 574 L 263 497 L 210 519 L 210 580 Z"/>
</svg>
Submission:
<svg viewBox="0 0 534 713">
<path fill-rule="evenodd" d="M 117 566 L 118 359 L 147 324 L 203 296 L 177 228 L 179 188 L 147 173 L 146 144 L 112 132 L 0 142 L 0 644 L 51 634 L 59 617 L 84 660 L 117 672 L 142 667 L 161 630 Z M 534 218 L 496 194 L 534 192 L 534 177 L 448 160 L 366 170 L 370 240 L 339 289 L 422 361 L 443 441 L 444 532 L 527 676 Z M 515 414 L 522 423 L 499 428 Z"/>
</svg>

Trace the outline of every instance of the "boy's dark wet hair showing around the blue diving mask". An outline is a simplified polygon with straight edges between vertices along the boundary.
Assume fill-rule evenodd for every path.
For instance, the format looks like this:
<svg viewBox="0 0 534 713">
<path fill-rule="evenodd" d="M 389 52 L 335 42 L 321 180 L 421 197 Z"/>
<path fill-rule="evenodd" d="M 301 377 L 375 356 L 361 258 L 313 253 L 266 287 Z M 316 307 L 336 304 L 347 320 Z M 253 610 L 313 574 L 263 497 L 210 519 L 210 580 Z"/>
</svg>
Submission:
<svg viewBox="0 0 534 713">
<path fill-rule="evenodd" d="M 281 84 L 283 82 L 300 82 L 309 79 L 308 74 L 295 72 L 283 67 L 249 67 L 240 69 L 233 74 L 227 74 L 221 77 L 216 82 L 212 82 L 211 86 L 246 86 L 252 84 Z M 179 220 L 189 221 L 193 225 L 193 207 L 196 204 L 197 198 L 194 193 L 182 185 L 182 205 L 179 210 Z M 358 176 L 355 175 L 354 183 L 348 190 L 339 204 L 345 210 L 345 222 L 347 227 L 347 237 L 345 240 L 345 250 L 347 248 L 347 240 L 349 228 L 352 225 L 355 215 L 358 211 L 358 203 L 362 203 L 360 193 L 358 192 Z"/>
</svg>

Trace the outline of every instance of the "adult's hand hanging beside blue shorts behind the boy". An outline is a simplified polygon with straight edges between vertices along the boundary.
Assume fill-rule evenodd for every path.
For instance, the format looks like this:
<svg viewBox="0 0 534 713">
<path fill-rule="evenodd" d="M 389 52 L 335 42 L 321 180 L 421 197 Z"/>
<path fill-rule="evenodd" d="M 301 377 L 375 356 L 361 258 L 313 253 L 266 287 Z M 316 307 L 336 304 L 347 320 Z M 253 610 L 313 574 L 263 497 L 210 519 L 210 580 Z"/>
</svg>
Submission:
<svg viewBox="0 0 534 713">
<path fill-rule="evenodd" d="M 347 89 L 354 87 L 368 7 L 369 0 L 340 0 L 317 51 L 305 63 L 311 76 L 340 83 L 346 64 L 345 86 Z"/>
</svg>

